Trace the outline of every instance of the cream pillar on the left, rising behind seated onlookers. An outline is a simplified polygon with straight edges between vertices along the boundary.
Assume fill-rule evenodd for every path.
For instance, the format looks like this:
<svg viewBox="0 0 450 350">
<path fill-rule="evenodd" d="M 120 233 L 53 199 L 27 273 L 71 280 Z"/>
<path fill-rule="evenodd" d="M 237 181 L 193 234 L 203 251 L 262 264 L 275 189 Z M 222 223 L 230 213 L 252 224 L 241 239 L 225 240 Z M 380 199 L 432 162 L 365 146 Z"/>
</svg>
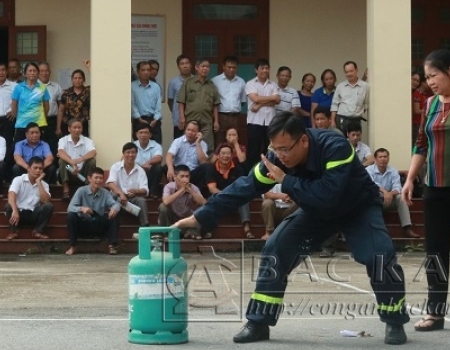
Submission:
<svg viewBox="0 0 450 350">
<path fill-rule="evenodd" d="M 131 139 L 131 1 L 91 0 L 91 122 L 97 164 L 120 160 Z"/>
</svg>

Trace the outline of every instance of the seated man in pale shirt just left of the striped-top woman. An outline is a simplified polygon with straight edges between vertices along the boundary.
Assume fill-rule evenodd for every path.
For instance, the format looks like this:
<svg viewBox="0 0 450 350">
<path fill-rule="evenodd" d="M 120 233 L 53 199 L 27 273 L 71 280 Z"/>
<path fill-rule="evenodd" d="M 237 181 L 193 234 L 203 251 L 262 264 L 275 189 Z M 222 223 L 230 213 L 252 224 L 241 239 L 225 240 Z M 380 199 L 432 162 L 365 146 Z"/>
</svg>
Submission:
<svg viewBox="0 0 450 350">
<path fill-rule="evenodd" d="M 366 167 L 373 182 L 380 188 L 380 196 L 383 200 L 383 210 L 397 210 L 405 235 L 411 238 L 419 238 L 420 235 L 412 230 L 409 208 L 402 201 L 402 185 L 397 169 L 389 166 L 389 151 L 379 148 L 375 151 L 375 164 Z"/>
</svg>

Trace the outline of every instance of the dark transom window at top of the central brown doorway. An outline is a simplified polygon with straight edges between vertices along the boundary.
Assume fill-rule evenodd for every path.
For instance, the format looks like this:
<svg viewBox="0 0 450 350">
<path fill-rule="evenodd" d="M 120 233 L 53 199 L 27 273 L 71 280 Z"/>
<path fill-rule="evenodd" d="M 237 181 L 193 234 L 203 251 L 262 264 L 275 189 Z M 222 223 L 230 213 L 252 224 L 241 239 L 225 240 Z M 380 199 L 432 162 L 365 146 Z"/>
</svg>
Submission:
<svg viewBox="0 0 450 350">
<path fill-rule="evenodd" d="M 207 20 L 245 20 L 258 15 L 256 5 L 196 4 L 194 18 Z"/>
</svg>

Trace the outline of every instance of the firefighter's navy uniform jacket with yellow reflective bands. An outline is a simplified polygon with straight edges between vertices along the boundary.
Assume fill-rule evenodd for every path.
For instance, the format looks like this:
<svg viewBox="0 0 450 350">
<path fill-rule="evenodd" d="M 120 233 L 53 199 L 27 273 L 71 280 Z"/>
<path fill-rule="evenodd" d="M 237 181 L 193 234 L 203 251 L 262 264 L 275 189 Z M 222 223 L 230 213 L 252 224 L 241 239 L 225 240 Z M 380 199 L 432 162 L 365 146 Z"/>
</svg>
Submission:
<svg viewBox="0 0 450 350">
<path fill-rule="evenodd" d="M 355 155 L 350 142 L 333 130 L 306 129 L 309 151 L 306 164 L 287 169 L 269 151 L 267 158 L 286 173 L 282 192 L 312 219 L 336 220 L 372 205 L 380 205 L 378 186 Z M 267 177 L 263 162 L 248 176 L 242 176 L 194 212 L 206 230 L 217 226 L 219 216 L 269 191 L 275 181 Z"/>
</svg>

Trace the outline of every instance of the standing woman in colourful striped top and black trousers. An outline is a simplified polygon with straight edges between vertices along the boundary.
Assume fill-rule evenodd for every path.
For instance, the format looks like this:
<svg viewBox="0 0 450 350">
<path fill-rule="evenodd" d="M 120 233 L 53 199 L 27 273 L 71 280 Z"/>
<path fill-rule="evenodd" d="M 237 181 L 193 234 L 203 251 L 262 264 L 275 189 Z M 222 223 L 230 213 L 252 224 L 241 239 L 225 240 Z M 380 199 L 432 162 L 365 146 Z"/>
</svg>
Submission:
<svg viewBox="0 0 450 350">
<path fill-rule="evenodd" d="M 425 77 L 435 96 L 428 98 L 413 148 L 402 198 L 412 205 L 414 180 L 427 164 L 424 184 L 425 242 L 424 263 L 428 281 L 427 315 L 416 322 L 416 331 L 444 328 L 449 276 L 450 216 L 450 50 L 431 52 L 424 62 Z"/>
</svg>

